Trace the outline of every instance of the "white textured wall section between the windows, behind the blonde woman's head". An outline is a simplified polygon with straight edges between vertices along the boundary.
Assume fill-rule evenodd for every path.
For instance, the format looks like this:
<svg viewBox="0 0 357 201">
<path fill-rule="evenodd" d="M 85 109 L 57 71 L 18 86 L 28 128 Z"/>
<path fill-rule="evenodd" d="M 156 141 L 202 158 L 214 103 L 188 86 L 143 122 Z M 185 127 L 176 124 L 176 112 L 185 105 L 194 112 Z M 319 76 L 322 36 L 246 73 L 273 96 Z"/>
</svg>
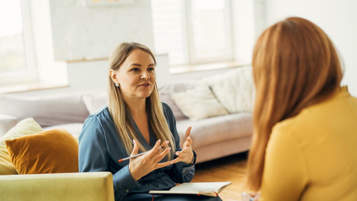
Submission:
<svg viewBox="0 0 357 201">
<path fill-rule="evenodd" d="M 97 7 L 82 0 L 49 1 L 56 61 L 107 58 L 124 41 L 154 48 L 150 0 Z"/>
</svg>

